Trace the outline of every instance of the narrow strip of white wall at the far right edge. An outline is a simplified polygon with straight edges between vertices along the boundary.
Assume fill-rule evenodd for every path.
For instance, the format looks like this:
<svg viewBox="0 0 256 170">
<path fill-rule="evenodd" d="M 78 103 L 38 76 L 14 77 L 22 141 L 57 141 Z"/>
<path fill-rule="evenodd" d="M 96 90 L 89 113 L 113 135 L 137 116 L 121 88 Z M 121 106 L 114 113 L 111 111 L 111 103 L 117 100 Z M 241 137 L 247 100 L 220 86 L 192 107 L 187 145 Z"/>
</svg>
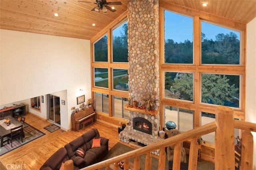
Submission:
<svg viewBox="0 0 256 170">
<path fill-rule="evenodd" d="M 247 24 L 246 40 L 246 117 L 245 120 L 256 123 L 256 18 Z M 256 168 L 256 133 L 253 132 L 253 165 Z"/>
</svg>

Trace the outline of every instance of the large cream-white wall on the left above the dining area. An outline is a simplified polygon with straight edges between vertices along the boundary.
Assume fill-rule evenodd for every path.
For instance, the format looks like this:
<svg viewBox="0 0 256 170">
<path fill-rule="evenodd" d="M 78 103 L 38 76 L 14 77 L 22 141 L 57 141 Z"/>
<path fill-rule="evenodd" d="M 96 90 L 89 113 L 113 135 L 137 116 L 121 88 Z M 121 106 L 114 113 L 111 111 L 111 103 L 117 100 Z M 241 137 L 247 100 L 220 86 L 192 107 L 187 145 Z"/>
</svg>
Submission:
<svg viewBox="0 0 256 170">
<path fill-rule="evenodd" d="M 70 129 L 76 97 L 91 98 L 90 75 L 89 40 L 0 29 L 0 108 L 62 91 L 61 127 Z M 35 114 L 46 118 L 45 106 Z"/>
</svg>

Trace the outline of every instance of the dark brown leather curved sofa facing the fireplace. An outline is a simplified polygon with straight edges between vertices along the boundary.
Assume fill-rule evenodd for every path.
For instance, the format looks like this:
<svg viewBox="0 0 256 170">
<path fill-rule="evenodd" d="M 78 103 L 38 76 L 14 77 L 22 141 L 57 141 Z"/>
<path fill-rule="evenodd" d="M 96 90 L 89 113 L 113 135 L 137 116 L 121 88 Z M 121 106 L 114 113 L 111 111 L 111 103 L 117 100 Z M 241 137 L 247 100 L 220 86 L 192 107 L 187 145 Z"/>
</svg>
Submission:
<svg viewBox="0 0 256 170">
<path fill-rule="evenodd" d="M 93 139 L 100 139 L 100 147 L 92 148 Z M 84 150 L 84 157 L 76 156 L 76 150 Z M 60 169 L 62 162 L 72 160 L 74 170 L 100 162 L 108 154 L 108 139 L 100 137 L 96 128 L 90 129 L 82 136 L 60 148 L 42 165 L 40 170 Z"/>
</svg>

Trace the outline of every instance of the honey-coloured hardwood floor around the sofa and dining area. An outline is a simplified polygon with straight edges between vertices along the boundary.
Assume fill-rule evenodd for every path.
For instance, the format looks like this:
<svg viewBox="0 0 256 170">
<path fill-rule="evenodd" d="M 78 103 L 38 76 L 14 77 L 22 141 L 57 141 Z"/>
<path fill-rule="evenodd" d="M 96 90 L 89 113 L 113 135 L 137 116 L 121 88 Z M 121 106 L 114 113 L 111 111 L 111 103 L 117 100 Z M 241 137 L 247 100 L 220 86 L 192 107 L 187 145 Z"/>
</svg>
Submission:
<svg viewBox="0 0 256 170">
<path fill-rule="evenodd" d="M 64 147 L 64 145 L 93 127 L 98 129 L 100 136 L 109 139 L 109 149 L 119 142 L 117 127 L 99 121 L 96 121 L 92 125 L 88 125 L 84 130 L 80 129 L 78 132 L 62 132 L 61 129 L 58 129 L 57 131 L 50 133 L 44 129 L 44 127 L 52 124 L 51 122 L 40 119 L 31 113 L 27 113 L 25 117 L 26 123 L 42 131 L 46 135 L 0 156 L 0 161 L 7 169 L 38 170 L 42 164 L 56 152 L 56 150 L 60 147 Z M 133 147 L 131 145 L 128 146 Z M 136 149 L 136 147 L 133 148 Z"/>
</svg>

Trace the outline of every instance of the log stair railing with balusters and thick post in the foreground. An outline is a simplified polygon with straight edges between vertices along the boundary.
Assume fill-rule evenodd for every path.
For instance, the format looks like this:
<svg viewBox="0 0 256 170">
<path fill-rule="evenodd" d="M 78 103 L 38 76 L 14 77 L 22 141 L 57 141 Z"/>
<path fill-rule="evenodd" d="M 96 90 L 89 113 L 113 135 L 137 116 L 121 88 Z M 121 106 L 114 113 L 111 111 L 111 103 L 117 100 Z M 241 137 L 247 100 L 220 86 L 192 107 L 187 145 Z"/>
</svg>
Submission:
<svg viewBox="0 0 256 170">
<path fill-rule="evenodd" d="M 232 123 L 234 122 L 234 123 Z M 118 170 L 119 161 L 124 162 L 124 170 L 128 170 L 128 159 L 134 159 L 134 170 L 140 169 L 139 156 L 146 154 L 145 169 L 151 169 L 152 157 L 150 152 L 160 149 L 158 170 L 164 170 L 166 153 L 165 147 L 175 145 L 173 170 L 180 169 L 180 143 L 192 139 L 190 143 L 190 152 L 188 160 L 188 170 L 194 170 L 197 167 L 198 143 L 197 137 L 212 133 L 215 131 L 215 169 L 235 169 L 235 154 L 234 154 L 234 128 L 245 130 L 242 133 L 242 154 L 241 154 L 241 170 L 252 169 L 253 164 L 253 137 L 251 131 L 256 132 L 256 124 L 234 120 L 234 113 L 230 107 L 219 106 L 216 108 L 216 121 L 200 126 L 196 129 L 186 131 L 179 135 L 164 139 L 152 145 L 148 145 L 130 152 L 115 156 L 108 160 L 93 164 L 82 168 L 82 170 L 97 170 L 106 167 L 109 170 L 109 165 L 114 164 L 114 170 Z"/>
</svg>

